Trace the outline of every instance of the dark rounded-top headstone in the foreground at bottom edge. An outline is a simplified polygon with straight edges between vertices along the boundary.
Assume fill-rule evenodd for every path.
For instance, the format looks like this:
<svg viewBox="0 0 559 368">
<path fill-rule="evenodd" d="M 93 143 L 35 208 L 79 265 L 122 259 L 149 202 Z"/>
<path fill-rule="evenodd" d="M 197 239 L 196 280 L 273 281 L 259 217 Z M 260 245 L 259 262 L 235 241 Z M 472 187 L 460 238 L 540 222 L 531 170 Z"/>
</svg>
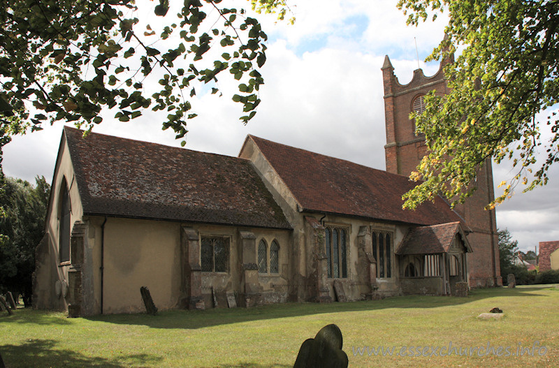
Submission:
<svg viewBox="0 0 559 368">
<path fill-rule="evenodd" d="M 347 368 L 349 360 L 342 344 L 340 327 L 326 325 L 314 339 L 306 339 L 301 344 L 293 368 Z"/>
</svg>

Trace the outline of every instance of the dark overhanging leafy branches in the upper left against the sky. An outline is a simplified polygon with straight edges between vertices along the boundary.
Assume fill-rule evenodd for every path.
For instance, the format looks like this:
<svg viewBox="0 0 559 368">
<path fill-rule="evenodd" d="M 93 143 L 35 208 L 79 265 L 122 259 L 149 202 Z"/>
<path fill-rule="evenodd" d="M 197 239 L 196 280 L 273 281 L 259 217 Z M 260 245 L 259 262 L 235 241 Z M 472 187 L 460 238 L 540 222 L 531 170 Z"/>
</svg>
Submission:
<svg viewBox="0 0 559 368">
<path fill-rule="evenodd" d="M 289 9 L 286 0 L 250 1 L 257 13 L 277 11 L 280 19 Z M 163 128 L 184 138 L 187 119 L 196 117 L 188 101 L 196 82 L 215 94 L 224 71 L 241 82 L 233 101 L 242 104 L 246 124 L 260 102 L 257 69 L 266 62 L 267 36 L 245 10 L 221 3 L 187 0 L 169 19 L 173 2 L 159 0 L 151 6 L 166 24 L 140 29 L 134 0 L 4 2 L 0 129 L 16 134 L 56 121 L 91 129 L 102 122 L 103 109 L 114 109 L 115 118 L 126 122 L 151 108 L 167 110 Z M 204 60 L 212 47 L 222 52 Z"/>
</svg>

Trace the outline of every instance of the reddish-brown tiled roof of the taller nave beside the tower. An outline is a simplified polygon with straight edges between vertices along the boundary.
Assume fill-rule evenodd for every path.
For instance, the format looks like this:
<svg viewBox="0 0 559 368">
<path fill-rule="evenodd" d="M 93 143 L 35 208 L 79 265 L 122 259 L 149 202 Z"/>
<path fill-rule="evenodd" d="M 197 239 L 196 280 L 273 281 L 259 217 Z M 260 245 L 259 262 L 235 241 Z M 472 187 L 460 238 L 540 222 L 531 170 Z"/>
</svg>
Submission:
<svg viewBox="0 0 559 368">
<path fill-rule="evenodd" d="M 402 209 L 407 177 L 249 135 L 306 212 L 434 225 L 460 221 L 442 198 Z"/>
</svg>

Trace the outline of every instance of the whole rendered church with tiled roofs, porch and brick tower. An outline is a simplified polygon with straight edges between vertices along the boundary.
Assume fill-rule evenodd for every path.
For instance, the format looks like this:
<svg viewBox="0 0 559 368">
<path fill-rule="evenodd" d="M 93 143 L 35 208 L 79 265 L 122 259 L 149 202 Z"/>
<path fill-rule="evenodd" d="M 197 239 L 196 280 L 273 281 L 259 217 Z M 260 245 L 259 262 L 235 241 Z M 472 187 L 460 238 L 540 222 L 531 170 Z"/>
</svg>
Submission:
<svg viewBox="0 0 559 368">
<path fill-rule="evenodd" d="M 248 135 L 238 157 L 64 128 L 34 306 L 71 316 L 375 300 L 500 284 L 491 165 L 467 205 L 402 209 L 425 153 L 408 115 L 442 69 L 402 86 L 382 68 L 386 166 Z"/>
</svg>

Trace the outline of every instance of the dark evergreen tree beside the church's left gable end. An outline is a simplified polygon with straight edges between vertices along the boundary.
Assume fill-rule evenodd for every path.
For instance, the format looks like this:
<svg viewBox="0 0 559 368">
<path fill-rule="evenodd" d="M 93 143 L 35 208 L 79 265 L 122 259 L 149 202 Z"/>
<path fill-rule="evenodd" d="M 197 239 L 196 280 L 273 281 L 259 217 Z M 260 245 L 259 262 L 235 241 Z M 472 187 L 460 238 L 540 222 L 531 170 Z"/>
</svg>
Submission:
<svg viewBox="0 0 559 368">
<path fill-rule="evenodd" d="M 50 185 L 36 177 L 36 186 L 22 179 L 4 180 L 0 219 L 0 292 L 20 293 L 31 306 L 35 247 L 44 235 Z"/>
</svg>

